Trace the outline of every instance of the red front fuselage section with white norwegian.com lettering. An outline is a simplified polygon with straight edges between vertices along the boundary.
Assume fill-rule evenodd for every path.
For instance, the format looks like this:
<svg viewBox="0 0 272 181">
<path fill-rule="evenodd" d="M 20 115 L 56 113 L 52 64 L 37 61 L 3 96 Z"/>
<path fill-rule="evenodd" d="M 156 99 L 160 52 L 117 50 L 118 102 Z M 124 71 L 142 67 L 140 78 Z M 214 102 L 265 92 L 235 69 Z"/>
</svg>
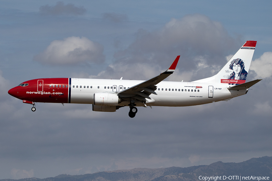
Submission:
<svg viewBox="0 0 272 181">
<path fill-rule="evenodd" d="M 43 91 L 38 89 L 38 81 L 43 80 Z M 8 91 L 8 94 L 21 99 L 43 103 L 68 103 L 69 78 L 40 78 L 25 81 Z M 50 87 L 51 85 L 51 87 Z"/>
</svg>

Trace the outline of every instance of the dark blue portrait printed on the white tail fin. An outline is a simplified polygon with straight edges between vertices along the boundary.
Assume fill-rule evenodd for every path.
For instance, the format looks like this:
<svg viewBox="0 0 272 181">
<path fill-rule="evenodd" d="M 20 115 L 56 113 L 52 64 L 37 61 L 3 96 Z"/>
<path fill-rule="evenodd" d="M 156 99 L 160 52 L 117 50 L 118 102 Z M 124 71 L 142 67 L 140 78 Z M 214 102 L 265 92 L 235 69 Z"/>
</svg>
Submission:
<svg viewBox="0 0 272 181">
<path fill-rule="evenodd" d="M 246 80 L 248 72 L 244 69 L 244 62 L 240 58 L 232 60 L 231 64 L 229 65 L 229 69 L 233 70 L 228 77 L 229 80 Z M 235 85 L 235 83 L 229 84 Z"/>
</svg>

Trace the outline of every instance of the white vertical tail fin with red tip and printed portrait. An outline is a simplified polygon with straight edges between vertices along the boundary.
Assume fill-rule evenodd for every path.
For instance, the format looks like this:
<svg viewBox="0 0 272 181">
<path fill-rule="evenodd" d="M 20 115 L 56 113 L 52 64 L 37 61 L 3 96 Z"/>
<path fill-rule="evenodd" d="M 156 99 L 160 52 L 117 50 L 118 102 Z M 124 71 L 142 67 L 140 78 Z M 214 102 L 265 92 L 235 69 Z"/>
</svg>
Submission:
<svg viewBox="0 0 272 181">
<path fill-rule="evenodd" d="M 194 82 L 230 85 L 245 83 L 256 43 L 257 41 L 247 41 L 216 75 Z"/>
</svg>

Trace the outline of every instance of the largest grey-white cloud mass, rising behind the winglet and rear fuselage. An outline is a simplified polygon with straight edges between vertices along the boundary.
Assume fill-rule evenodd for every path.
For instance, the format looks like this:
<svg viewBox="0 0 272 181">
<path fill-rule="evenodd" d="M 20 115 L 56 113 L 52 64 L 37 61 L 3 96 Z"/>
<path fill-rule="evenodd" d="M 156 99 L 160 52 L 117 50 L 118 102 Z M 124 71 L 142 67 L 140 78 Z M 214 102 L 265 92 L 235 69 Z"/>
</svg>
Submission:
<svg viewBox="0 0 272 181">
<path fill-rule="evenodd" d="M 171 75 L 169 79 L 206 78 L 220 70 L 218 57 L 223 56 L 225 49 L 232 48 L 235 41 L 222 24 L 200 14 L 173 18 L 160 30 L 140 29 L 136 35 L 127 49 L 115 53 L 114 63 L 89 78 L 147 80 L 167 70 L 177 55 L 181 55 L 177 69 L 183 75 L 175 78 Z"/>
</svg>

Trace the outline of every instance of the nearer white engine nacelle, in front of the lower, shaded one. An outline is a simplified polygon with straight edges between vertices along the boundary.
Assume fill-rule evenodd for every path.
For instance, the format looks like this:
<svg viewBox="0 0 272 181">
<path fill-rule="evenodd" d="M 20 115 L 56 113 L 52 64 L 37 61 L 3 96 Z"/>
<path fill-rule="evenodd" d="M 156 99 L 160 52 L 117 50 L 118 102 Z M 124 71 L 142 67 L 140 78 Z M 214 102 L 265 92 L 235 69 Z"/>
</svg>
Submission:
<svg viewBox="0 0 272 181">
<path fill-rule="evenodd" d="M 93 103 L 96 106 L 117 106 L 121 99 L 117 94 L 98 92 L 93 94 Z"/>
</svg>

